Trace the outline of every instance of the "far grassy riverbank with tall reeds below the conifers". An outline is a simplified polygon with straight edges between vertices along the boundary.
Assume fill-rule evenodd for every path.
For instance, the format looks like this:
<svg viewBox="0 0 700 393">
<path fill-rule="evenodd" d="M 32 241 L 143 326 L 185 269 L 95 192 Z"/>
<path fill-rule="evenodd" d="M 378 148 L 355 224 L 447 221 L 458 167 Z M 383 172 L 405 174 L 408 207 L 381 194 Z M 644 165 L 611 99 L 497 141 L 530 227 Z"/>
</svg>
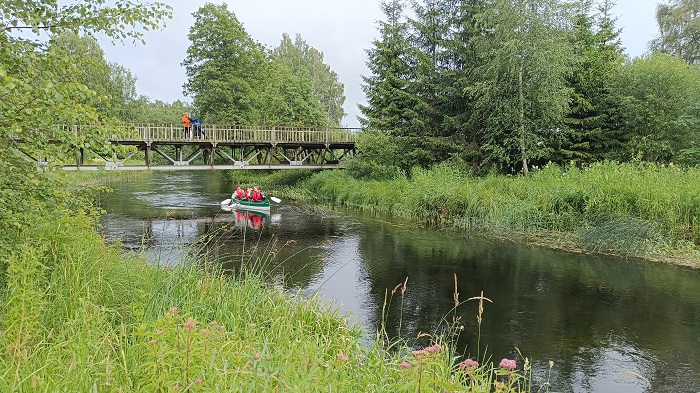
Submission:
<svg viewBox="0 0 700 393">
<path fill-rule="evenodd" d="M 270 176 L 257 181 L 295 199 L 576 252 L 700 267 L 698 169 L 601 163 L 473 178 L 439 166 L 381 181 L 358 180 L 349 171 L 301 181 L 296 174 L 288 187 L 280 186 L 284 175 Z"/>
</svg>

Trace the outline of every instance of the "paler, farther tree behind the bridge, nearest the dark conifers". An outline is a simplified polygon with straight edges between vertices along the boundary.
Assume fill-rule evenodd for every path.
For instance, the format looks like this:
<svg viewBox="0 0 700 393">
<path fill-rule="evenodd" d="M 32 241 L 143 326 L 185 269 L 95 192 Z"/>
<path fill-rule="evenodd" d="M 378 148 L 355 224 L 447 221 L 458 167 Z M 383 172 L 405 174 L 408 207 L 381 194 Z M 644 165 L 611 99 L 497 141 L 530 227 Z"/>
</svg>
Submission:
<svg viewBox="0 0 700 393">
<path fill-rule="evenodd" d="M 280 44 L 272 52 L 273 62 L 291 70 L 294 77 L 307 79 L 311 85 L 313 97 L 321 105 L 325 124 L 340 126 L 346 113 L 345 87 L 338 80 L 338 74 L 323 62 L 323 53 L 309 46 L 297 34 L 294 41 L 286 33 Z"/>
</svg>

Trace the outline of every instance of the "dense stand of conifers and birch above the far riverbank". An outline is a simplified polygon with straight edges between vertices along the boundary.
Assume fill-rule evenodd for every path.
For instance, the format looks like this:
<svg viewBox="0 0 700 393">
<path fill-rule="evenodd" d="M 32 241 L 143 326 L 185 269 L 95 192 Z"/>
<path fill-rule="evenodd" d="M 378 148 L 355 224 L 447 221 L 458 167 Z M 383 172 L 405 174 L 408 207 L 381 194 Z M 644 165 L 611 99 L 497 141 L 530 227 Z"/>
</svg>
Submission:
<svg viewBox="0 0 700 393">
<path fill-rule="evenodd" d="M 480 174 L 604 159 L 700 163 L 697 2 L 660 5 L 661 35 L 635 59 L 613 5 L 383 1 L 361 106 L 377 132 L 361 143 L 360 165 L 407 172 L 457 160 Z"/>
</svg>

